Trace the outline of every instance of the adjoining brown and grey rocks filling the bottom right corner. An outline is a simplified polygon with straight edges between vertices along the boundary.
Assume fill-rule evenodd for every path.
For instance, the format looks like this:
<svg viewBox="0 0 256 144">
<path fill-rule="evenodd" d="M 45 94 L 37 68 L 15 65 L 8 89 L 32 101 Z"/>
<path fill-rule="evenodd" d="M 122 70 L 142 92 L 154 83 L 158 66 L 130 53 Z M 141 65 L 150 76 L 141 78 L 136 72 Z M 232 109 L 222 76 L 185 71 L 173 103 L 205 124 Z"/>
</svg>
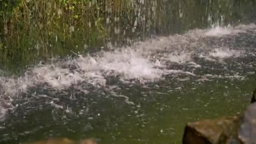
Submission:
<svg viewBox="0 0 256 144">
<path fill-rule="evenodd" d="M 183 144 L 256 144 L 256 88 L 243 115 L 188 123 Z"/>
</svg>

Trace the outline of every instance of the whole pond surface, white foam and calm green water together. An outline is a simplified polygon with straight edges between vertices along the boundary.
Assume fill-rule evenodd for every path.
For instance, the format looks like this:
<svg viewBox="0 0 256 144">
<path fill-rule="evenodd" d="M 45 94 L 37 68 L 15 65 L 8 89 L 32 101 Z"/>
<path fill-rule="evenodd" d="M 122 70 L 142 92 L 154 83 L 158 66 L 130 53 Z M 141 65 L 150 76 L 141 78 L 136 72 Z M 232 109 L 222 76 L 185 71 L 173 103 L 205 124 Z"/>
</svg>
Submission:
<svg viewBox="0 0 256 144">
<path fill-rule="evenodd" d="M 193 2 L 195 13 L 206 5 Z M 26 62 L 13 75 L 1 69 L 0 141 L 95 137 L 102 144 L 179 144 L 187 122 L 243 112 L 255 87 L 256 24 L 249 4 L 233 3 L 229 8 L 244 8 L 243 16 L 223 13 L 223 26 L 211 27 L 212 21 L 199 22 L 202 15 L 187 17 L 184 26 L 176 22 L 180 15 L 168 21 L 166 3 L 156 7 L 166 19 L 157 32 L 148 31 L 152 37 Z"/>
</svg>

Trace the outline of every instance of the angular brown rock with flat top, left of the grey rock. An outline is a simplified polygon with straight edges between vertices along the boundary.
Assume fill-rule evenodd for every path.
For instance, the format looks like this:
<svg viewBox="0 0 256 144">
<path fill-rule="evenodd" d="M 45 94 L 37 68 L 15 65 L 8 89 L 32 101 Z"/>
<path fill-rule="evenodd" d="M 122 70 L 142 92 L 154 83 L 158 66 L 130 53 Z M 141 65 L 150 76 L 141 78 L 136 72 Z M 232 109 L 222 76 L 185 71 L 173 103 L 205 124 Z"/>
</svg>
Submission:
<svg viewBox="0 0 256 144">
<path fill-rule="evenodd" d="M 185 127 L 183 144 L 240 144 L 237 138 L 239 117 L 221 117 L 188 123 Z"/>
</svg>

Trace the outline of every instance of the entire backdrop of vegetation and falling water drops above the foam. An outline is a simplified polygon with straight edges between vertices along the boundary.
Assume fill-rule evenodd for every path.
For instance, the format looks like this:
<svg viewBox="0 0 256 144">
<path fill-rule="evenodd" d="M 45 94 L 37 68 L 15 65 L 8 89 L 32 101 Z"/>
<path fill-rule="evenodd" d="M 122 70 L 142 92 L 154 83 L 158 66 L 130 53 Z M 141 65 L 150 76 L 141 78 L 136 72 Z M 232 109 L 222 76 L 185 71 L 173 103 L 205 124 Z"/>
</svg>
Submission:
<svg viewBox="0 0 256 144">
<path fill-rule="evenodd" d="M 254 3 L 253 0 L 0 0 L 0 69 L 66 56 L 70 50 L 86 52 L 88 47 L 109 42 L 122 45 L 151 34 L 208 27 L 221 18 L 224 22 L 232 21 L 234 17 L 243 18 L 243 13 L 237 13 L 239 8 Z M 213 21 L 208 21 L 210 15 Z"/>
</svg>

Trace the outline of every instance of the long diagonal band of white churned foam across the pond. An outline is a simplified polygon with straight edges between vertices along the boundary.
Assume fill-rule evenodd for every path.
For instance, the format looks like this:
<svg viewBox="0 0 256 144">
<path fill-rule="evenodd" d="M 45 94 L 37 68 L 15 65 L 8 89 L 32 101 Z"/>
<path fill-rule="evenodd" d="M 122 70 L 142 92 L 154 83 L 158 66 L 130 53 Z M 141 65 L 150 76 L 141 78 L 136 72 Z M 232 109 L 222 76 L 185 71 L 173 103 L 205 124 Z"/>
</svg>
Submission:
<svg viewBox="0 0 256 144">
<path fill-rule="evenodd" d="M 195 73 L 196 69 L 206 67 L 197 64 L 197 58 L 220 62 L 228 58 L 243 57 L 245 53 L 229 47 L 211 48 L 211 45 L 204 43 L 203 38 L 239 35 L 250 29 L 256 29 L 256 26 L 250 24 L 206 30 L 195 29 L 183 35 L 157 37 L 119 50 L 95 53 L 95 56 L 77 55 L 76 58 L 67 61 L 38 64 L 27 69 L 27 72 L 21 76 L 0 77 L 0 97 L 5 98 L 0 103 L 0 117 L 4 117 L 7 109 L 14 108 L 12 101 L 15 97 L 20 93 L 28 93 L 38 85 L 60 92 L 73 86 L 77 90 L 84 91 L 86 95 L 90 93 L 90 88 L 83 83 L 98 88 L 106 87 L 109 86 L 107 85 L 109 77 L 115 77 L 122 83 L 141 85 L 163 80 L 165 75 L 172 75 L 180 81 L 189 78 L 181 79 L 179 75 L 192 76 L 197 80 L 210 80 L 213 76 Z M 122 97 L 128 104 L 134 104 L 127 96 L 119 95 L 113 89 L 109 89 L 109 92 L 113 96 Z"/>
</svg>

